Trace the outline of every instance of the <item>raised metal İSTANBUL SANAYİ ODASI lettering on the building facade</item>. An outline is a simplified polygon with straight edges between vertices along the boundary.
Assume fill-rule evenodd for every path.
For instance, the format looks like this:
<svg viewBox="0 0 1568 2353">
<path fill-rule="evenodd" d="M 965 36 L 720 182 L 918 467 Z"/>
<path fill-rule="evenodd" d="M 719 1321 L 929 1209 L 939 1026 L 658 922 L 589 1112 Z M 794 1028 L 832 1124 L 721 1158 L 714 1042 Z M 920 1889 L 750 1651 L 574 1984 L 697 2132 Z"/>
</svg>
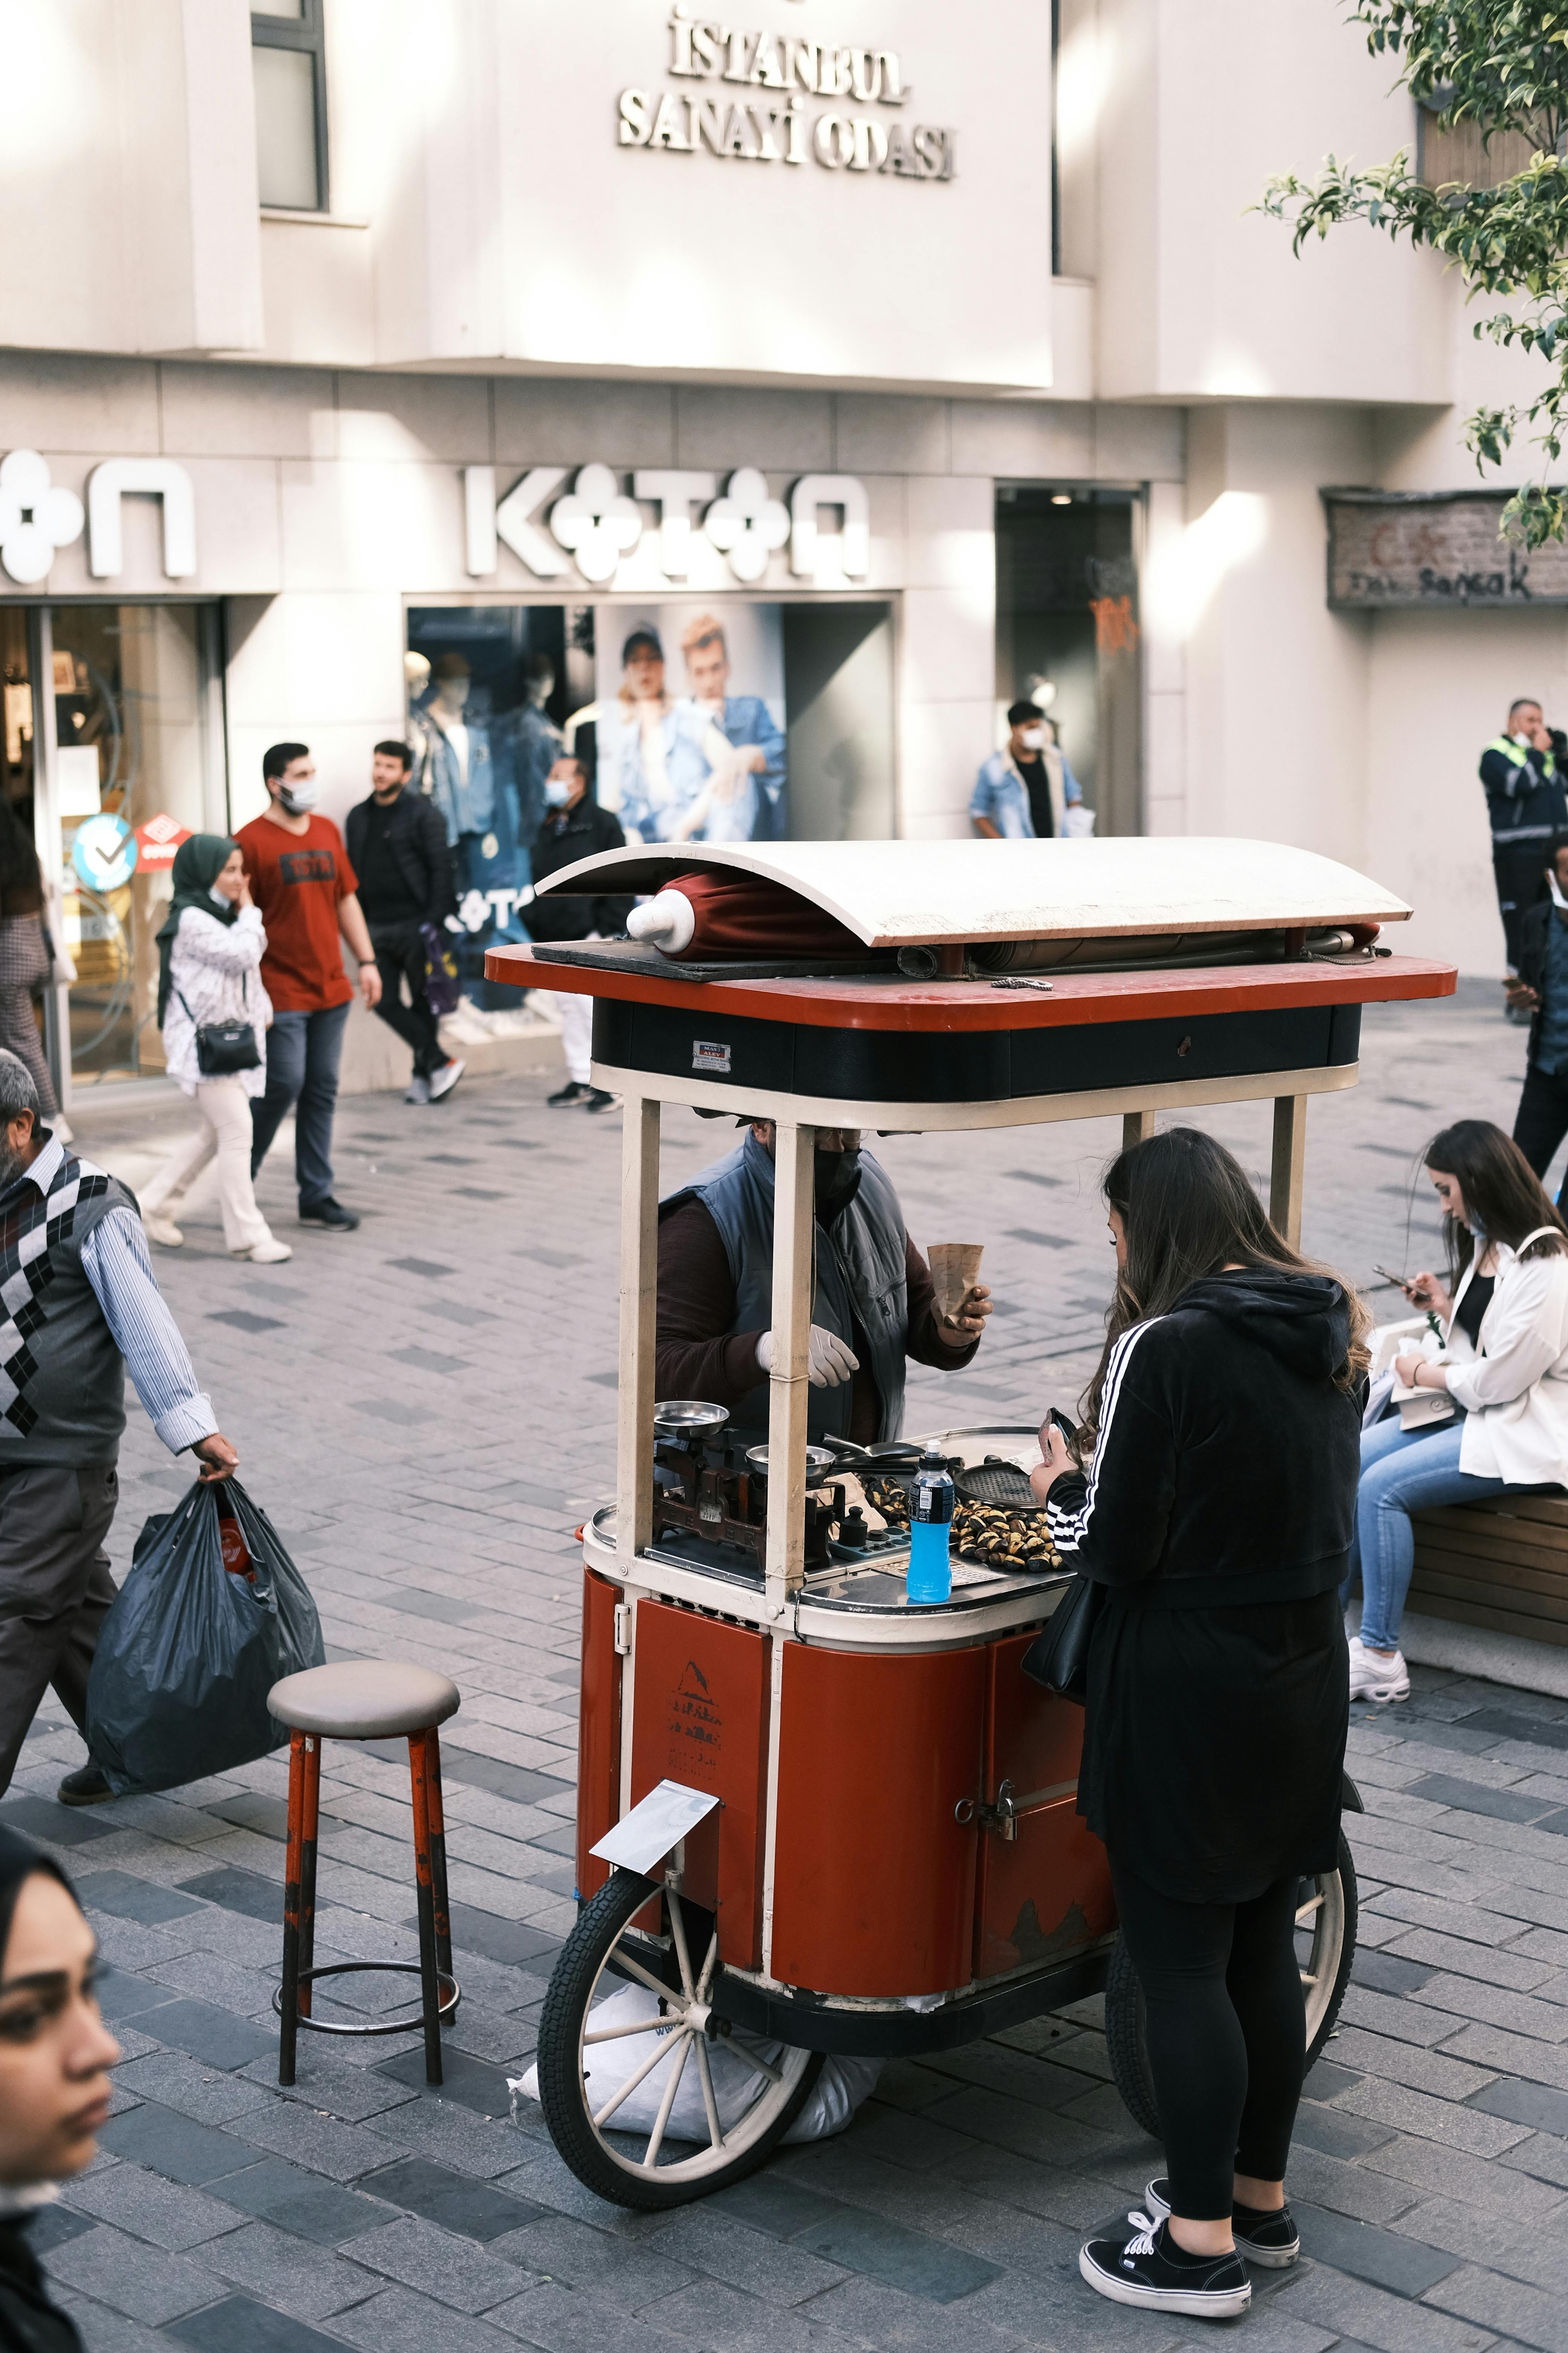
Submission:
<svg viewBox="0 0 1568 2353">
<path fill-rule="evenodd" d="M 736 162 L 818 162 L 827 172 L 952 179 L 954 134 L 910 122 L 896 49 L 795 33 L 738 33 L 677 7 L 665 71 L 710 89 L 623 89 L 618 144 Z M 811 106 L 827 99 L 827 106 Z"/>
</svg>

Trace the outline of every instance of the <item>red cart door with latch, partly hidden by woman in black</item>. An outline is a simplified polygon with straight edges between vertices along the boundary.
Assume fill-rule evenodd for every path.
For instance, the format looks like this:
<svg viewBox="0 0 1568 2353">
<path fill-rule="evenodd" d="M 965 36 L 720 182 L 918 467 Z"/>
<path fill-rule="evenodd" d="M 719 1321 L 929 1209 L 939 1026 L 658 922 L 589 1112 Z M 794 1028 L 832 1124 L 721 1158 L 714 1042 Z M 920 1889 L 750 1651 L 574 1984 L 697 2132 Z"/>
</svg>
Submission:
<svg viewBox="0 0 1568 2353">
<path fill-rule="evenodd" d="M 980 1840 L 976 1977 L 1063 1960 L 1117 1925 L 1105 1847 L 1077 1812 L 1084 1711 L 1020 1668 L 1032 1633 L 992 1642 L 985 1802 L 1013 1784 L 1018 1835 Z"/>
</svg>

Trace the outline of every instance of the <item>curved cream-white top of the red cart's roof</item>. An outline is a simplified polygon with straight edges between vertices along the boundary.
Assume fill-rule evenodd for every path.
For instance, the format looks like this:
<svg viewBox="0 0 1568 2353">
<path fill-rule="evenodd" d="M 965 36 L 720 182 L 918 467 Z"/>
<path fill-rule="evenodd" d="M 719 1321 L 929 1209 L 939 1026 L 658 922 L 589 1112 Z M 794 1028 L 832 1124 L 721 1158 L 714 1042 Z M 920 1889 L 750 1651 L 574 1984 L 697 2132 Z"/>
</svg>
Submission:
<svg viewBox="0 0 1568 2353">
<path fill-rule="evenodd" d="M 632 845 L 562 866 L 541 896 L 656 892 L 717 868 L 797 892 L 867 948 L 983 939 L 1253 932 L 1403 922 L 1410 908 L 1335 859 L 1288 842 L 1159 835 L 1018 842 Z"/>
</svg>

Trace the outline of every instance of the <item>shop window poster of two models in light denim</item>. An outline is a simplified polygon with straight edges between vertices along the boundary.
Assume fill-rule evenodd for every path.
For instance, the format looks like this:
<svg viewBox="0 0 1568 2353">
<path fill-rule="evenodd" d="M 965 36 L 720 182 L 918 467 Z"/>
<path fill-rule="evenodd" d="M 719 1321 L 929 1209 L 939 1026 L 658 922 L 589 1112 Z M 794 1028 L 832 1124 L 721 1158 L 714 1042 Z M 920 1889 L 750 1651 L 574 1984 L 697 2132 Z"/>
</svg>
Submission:
<svg viewBox="0 0 1568 2353">
<path fill-rule="evenodd" d="M 595 642 L 597 798 L 625 838 L 783 840 L 778 605 L 599 607 Z"/>
</svg>

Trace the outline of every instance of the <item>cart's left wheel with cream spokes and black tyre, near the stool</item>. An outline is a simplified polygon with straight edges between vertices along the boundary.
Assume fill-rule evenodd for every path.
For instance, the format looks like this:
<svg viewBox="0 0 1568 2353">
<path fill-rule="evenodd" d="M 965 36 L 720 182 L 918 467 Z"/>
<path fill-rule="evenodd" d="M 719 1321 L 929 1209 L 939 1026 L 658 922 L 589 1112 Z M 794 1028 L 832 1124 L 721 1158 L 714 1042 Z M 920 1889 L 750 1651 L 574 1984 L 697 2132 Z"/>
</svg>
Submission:
<svg viewBox="0 0 1568 2353">
<path fill-rule="evenodd" d="M 663 1897 L 663 1934 L 632 1927 Z M 675 2207 L 755 2172 L 820 2052 L 741 2040 L 710 2012 L 712 1915 L 616 1871 L 562 1946 L 538 2021 L 538 2097 L 562 2160 L 599 2198 Z"/>
</svg>

